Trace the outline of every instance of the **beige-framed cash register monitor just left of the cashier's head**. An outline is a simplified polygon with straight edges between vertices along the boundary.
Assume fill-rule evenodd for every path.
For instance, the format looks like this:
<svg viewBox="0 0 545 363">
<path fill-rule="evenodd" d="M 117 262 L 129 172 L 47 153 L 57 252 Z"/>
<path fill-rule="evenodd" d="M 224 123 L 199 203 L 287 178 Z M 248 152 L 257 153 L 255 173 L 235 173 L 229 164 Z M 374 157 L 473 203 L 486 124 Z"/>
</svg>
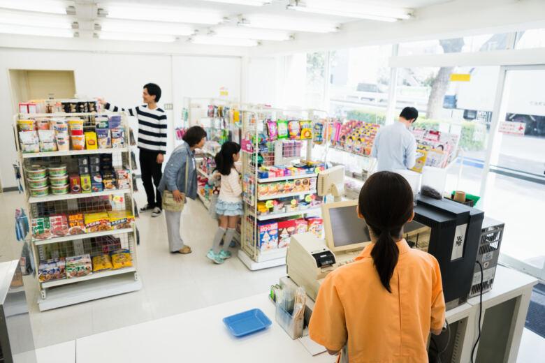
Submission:
<svg viewBox="0 0 545 363">
<path fill-rule="evenodd" d="M 330 251 L 363 249 L 371 241 L 365 221 L 358 218 L 357 205 L 358 200 L 347 200 L 321 206 L 326 244 Z"/>
</svg>

